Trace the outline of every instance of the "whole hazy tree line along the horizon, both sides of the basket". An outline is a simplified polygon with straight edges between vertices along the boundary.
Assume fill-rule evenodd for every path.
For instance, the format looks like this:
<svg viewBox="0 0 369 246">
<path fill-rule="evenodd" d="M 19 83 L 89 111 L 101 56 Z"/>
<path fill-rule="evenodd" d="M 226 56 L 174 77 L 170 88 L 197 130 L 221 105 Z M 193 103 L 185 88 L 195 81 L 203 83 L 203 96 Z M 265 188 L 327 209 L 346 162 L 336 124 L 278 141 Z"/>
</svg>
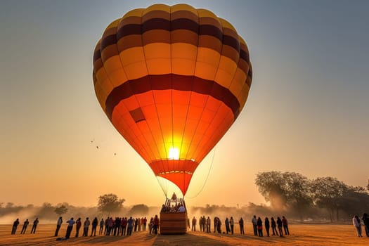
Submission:
<svg viewBox="0 0 369 246">
<path fill-rule="evenodd" d="M 266 171 L 257 174 L 255 184 L 259 193 L 264 196 L 269 205 L 248 205 L 226 207 L 225 205 L 205 205 L 205 207 L 190 207 L 191 214 L 235 216 L 252 218 L 253 214 L 272 216 L 284 214 L 290 219 L 299 221 L 349 221 L 354 214 L 368 213 L 369 185 L 349 186 L 332 177 L 307 179 L 295 172 Z M 28 218 L 38 217 L 44 222 L 52 222 L 58 216 L 115 216 L 130 214 L 130 216 L 148 216 L 157 214 L 160 207 L 148 207 L 138 204 L 123 206 L 125 200 L 115 194 L 105 194 L 98 197 L 96 207 L 76 207 L 67 202 L 51 205 L 44 202 L 41 206 L 14 205 L 12 202 L 0 202 L 0 222 L 4 223 L 6 215 L 18 215 Z"/>
</svg>

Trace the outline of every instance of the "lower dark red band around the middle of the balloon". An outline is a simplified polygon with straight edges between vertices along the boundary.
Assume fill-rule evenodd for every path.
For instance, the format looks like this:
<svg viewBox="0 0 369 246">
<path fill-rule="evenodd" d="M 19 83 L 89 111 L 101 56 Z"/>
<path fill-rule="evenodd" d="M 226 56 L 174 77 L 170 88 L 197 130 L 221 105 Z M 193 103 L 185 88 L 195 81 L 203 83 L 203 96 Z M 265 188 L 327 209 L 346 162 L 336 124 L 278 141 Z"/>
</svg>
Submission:
<svg viewBox="0 0 369 246">
<path fill-rule="evenodd" d="M 233 112 L 236 119 L 240 113 L 240 103 L 231 91 L 218 83 L 201 79 L 195 76 L 185 75 L 147 75 L 139 79 L 129 80 L 113 89 L 106 98 L 105 112 L 112 119 L 112 112 L 118 103 L 134 94 L 144 93 L 151 90 L 174 89 L 177 91 L 195 91 L 204 95 L 212 96 L 222 101 Z"/>
</svg>

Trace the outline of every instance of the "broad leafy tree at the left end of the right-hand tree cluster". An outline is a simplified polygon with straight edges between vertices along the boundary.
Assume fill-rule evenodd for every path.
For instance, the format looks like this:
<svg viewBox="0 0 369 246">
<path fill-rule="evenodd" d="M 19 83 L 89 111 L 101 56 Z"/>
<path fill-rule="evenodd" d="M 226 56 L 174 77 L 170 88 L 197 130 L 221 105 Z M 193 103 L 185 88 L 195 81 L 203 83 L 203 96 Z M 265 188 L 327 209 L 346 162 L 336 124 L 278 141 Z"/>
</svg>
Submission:
<svg viewBox="0 0 369 246">
<path fill-rule="evenodd" d="M 255 183 L 271 207 L 294 209 L 302 220 L 304 209 L 312 205 L 310 181 L 295 172 L 266 171 L 257 174 Z"/>
</svg>

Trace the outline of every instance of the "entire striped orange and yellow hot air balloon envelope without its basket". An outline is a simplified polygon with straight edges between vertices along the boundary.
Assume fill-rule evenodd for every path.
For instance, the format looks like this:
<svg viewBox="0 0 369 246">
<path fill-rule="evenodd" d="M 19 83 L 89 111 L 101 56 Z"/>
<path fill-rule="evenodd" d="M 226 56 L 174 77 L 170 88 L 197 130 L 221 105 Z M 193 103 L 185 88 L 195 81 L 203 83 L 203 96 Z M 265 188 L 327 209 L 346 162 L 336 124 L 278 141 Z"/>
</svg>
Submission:
<svg viewBox="0 0 369 246">
<path fill-rule="evenodd" d="M 93 55 L 104 112 L 183 195 L 244 107 L 251 81 L 249 51 L 231 24 L 186 4 L 130 11 L 107 27 Z"/>
</svg>

